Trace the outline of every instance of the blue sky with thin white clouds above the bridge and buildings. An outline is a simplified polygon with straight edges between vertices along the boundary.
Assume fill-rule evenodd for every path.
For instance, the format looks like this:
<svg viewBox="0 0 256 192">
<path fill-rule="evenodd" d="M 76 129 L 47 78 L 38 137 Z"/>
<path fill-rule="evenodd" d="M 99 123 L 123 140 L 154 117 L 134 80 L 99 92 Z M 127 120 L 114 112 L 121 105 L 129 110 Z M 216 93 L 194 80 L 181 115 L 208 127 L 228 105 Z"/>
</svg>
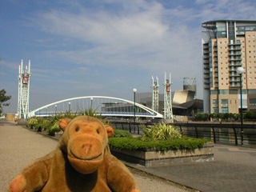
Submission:
<svg viewBox="0 0 256 192">
<path fill-rule="evenodd" d="M 30 110 L 65 98 L 133 99 L 151 76 L 172 74 L 172 90 L 196 78 L 202 98 L 202 22 L 256 20 L 254 0 L 0 2 L 0 89 L 17 112 L 18 66 L 31 60 Z"/>
</svg>

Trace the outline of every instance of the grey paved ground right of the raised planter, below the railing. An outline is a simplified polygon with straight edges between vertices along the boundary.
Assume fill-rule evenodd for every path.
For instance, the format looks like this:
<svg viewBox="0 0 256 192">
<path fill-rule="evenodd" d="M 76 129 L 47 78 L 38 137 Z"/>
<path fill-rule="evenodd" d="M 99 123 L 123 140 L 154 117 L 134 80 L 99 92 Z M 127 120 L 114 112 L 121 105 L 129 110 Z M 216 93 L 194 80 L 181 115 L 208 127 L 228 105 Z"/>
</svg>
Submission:
<svg viewBox="0 0 256 192">
<path fill-rule="evenodd" d="M 214 145 L 213 162 L 148 168 L 127 165 L 199 191 L 256 191 L 256 149 L 242 146 Z"/>
</svg>

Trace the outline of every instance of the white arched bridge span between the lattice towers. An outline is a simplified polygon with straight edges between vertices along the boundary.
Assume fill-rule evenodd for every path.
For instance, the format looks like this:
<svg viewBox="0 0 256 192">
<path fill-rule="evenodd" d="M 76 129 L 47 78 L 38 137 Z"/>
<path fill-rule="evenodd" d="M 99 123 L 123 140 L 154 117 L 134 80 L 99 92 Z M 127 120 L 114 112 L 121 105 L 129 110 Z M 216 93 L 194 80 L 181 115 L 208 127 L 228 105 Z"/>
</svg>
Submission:
<svg viewBox="0 0 256 192">
<path fill-rule="evenodd" d="M 106 96 L 83 96 L 52 102 L 31 111 L 30 117 L 46 117 L 67 111 L 80 113 L 90 108 L 102 116 L 134 117 L 134 102 Z M 162 114 L 137 102 L 135 102 L 135 116 L 140 118 L 163 118 Z"/>
</svg>

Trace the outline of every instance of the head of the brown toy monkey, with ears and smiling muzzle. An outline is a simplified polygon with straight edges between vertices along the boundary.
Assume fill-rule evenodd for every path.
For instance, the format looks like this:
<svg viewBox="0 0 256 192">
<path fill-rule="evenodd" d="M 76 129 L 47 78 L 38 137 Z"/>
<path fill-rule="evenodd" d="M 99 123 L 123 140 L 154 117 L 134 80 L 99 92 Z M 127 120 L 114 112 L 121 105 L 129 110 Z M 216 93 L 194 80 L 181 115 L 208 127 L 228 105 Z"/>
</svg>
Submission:
<svg viewBox="0 0 256 192">
<path fill-rule="evenodd" d="M 114 134 L 111 126 L 104 126 L 93 117 L 79 116 L 73 120 L 62 118 L 59 126 L 64 133 L 59 141 L 61 149 L 74 170 L 91 174 L 98 170 L 108 152 L 108 138 Z"/>
</svg>

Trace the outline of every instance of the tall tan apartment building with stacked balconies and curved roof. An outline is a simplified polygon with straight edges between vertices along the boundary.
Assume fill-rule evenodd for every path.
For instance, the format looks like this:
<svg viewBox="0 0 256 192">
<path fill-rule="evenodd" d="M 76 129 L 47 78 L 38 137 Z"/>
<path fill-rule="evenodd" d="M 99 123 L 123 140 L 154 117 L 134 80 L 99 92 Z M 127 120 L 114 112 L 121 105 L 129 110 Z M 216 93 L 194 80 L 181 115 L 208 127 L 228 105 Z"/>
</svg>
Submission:
<svg viewBox="0 0 256 192">
<path fill-rule="evenodd" d="M 256 111 L 256 20 L 216 20 L 202 23 L 205 113 Z"/>
</svg>

